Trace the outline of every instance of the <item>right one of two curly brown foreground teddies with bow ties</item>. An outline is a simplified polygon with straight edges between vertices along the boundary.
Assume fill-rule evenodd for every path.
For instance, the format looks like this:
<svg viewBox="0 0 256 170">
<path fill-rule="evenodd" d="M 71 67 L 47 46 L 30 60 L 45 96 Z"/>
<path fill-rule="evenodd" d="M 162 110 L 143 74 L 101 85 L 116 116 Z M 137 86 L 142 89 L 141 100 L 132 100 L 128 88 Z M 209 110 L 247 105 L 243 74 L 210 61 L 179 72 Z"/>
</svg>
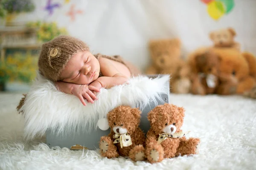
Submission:
<svg viewBox="0 0 256 170">
<path fill-rule="evenodd" d="M 158 105 L 148 113 L 150 130 L 146 138 L 145 156 L 149 162 L 197 153 L 198 138 L 186 139 L 182 132 L 184 109 L 172 104 Z"/>
</svg>

